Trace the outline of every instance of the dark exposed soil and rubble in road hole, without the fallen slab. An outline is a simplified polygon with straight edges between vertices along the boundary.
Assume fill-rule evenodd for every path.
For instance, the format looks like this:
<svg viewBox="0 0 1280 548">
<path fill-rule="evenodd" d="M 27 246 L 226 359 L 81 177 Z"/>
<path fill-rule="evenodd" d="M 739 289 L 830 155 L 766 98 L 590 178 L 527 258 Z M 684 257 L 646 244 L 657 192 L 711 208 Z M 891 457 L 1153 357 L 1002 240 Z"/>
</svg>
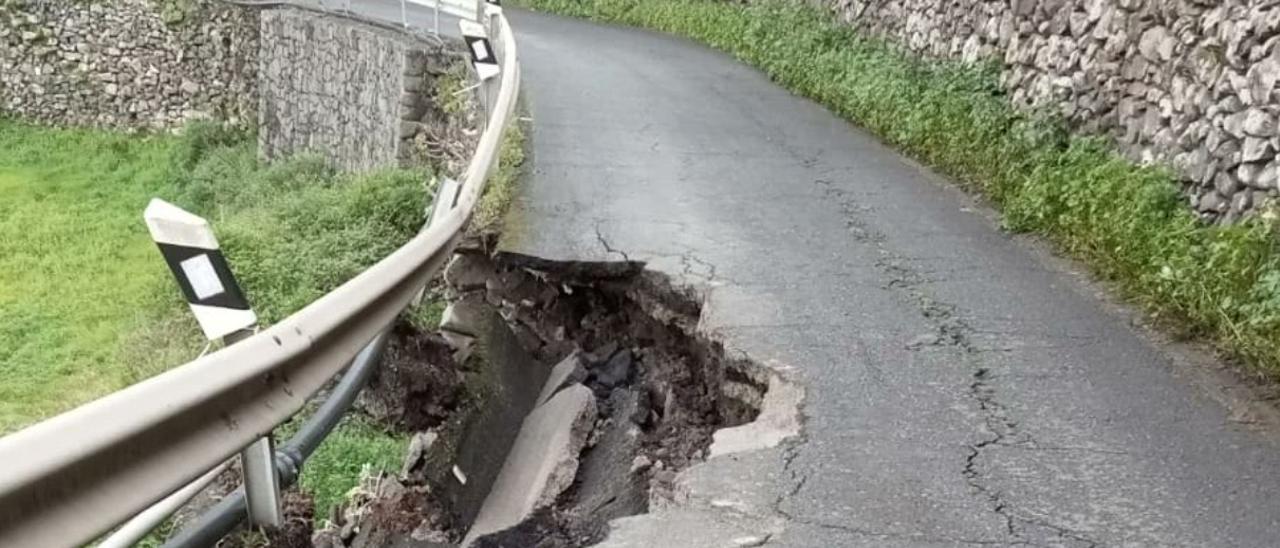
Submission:
<svg viewBox="0 0 1280 548">
<path fill-rule="evenodd" d="M 516 255 L 490 262 L 486 302 L 539 362 L 581 359 L 596 417 L 568 488 L 475 547 L 599 542 L 609 520 L 646 512 L 652 492 L 669 492 L 678 470 L 707 456 L 716 430 L 759 414 L 763 367 L 726 356 L 698 332 L 701 300 L 692 291 L 639 262 Z"/>
</svg>

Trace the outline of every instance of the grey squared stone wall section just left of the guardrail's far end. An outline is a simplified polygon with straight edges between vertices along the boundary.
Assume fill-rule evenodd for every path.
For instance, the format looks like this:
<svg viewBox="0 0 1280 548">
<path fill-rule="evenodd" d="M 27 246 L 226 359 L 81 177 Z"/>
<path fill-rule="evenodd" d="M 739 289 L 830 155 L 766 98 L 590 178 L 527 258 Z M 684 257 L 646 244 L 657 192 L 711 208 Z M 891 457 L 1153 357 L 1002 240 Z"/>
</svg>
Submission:
<svg viewBox="0 0 1280 548">
<path fill-rule="evenodd" d="M 410 160 L 435 113 L 448 46 L 314 12 L 262 13 L 259 150 L 321 152 L 344 169 Z"/>
</svg>

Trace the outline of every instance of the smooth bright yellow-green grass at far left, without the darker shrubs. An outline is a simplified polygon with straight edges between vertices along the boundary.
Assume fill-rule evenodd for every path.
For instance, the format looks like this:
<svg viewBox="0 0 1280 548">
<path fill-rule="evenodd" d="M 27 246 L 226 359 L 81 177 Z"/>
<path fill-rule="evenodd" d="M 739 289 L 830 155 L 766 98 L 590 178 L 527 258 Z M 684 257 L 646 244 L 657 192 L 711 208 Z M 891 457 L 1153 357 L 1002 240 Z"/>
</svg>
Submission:
<svg viewBox="0 0 1280 548">
<path fill-rule="evenodd" d="M 166 289 L 141 215 L 172 146 L 0 122 L 0 433 L 129 382 L 116 351 Z"/>
</svg>

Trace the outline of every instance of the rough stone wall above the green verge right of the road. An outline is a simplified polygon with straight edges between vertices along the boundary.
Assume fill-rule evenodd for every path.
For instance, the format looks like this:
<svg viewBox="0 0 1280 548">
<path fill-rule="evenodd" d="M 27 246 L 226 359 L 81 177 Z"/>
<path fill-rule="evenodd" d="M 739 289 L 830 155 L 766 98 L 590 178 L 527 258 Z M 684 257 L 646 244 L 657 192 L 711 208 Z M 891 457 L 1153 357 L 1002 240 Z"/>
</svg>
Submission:
<svg viewBox="0 0 1280 548">
<path fill-rule="evenodd" d="M 1171 165 L 1207 218 L 1234 220 L 1277 193 L 1280 1 L 833 1 L 916 52 L 998 59 L 1016 105 Z"/>
</svg>

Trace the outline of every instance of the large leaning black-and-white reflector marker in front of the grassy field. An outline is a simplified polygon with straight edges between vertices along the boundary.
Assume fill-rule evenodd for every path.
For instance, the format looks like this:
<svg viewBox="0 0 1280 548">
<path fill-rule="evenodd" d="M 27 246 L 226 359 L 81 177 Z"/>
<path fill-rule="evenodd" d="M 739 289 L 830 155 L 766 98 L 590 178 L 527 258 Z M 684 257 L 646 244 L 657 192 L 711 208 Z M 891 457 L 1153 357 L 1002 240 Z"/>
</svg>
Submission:
<svg viewBox="0 0 1280 548">
<path fill-rule="evenodd" d="M 205 337 L 219 339 L 257 324 L 207 220 L 159 198 L 142 216 Z"/>
</svg>

